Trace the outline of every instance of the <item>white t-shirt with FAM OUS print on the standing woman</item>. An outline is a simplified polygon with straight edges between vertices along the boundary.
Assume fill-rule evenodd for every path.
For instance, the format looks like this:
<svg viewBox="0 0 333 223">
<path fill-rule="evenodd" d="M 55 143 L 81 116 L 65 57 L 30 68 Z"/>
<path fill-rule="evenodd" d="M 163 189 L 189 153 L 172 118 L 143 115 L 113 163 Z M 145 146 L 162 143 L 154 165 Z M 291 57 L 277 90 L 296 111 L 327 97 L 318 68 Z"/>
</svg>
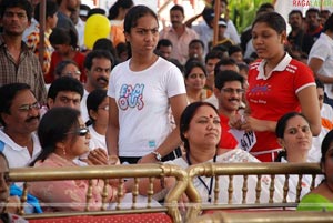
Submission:
<svg viewBox="0 0 333 223">
<path fill-rule="evenodd" d="M 112 70 L 108 95 L 119 110 L 119 156 L 143 156 L 172 131 L 169 99 L 186 91 L 180 70 L 161 57 L 138 72 L 130 70 L 129 62 Z"/>
</svg>

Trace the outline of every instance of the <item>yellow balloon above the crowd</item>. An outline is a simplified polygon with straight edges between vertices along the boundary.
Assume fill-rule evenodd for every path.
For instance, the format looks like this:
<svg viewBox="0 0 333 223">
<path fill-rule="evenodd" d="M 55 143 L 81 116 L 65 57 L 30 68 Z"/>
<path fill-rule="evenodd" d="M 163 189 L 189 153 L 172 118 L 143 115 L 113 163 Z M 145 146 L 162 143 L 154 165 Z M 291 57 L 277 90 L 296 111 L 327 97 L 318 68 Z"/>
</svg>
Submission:
<svg viewBox="0 0 333 223">
<path fill-rule="evenodd" d="M 103 14 L 93 14 L 88 18 L 84 28 L 84 44 L 92 49 L 93 43 L 101 38 L 110 37 L 110 22 Z"/>
</svg>

